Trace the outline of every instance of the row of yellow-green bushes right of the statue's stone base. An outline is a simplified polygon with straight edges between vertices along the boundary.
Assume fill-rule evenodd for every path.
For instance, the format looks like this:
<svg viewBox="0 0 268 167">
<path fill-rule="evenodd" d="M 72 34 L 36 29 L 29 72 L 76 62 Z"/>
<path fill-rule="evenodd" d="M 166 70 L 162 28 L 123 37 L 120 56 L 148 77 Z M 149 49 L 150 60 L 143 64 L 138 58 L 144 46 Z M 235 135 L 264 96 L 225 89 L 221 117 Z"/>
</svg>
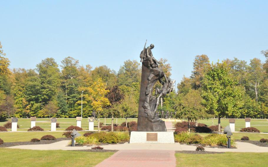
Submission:
<svg viewBox="0 0 268 167">
<path fill-rule="evenodd" d="M 175 142 L 188 143 L 188 144 L 204 144 L 209 146 L 226 146 L 227 138 L 221 134 L 210 134 L 202 137 L 198 134 L 191 132 L 181 132 L 174 135 Z M 234 139 L 231 138 L 231 146 L 235 146 Z"/>
</svg>

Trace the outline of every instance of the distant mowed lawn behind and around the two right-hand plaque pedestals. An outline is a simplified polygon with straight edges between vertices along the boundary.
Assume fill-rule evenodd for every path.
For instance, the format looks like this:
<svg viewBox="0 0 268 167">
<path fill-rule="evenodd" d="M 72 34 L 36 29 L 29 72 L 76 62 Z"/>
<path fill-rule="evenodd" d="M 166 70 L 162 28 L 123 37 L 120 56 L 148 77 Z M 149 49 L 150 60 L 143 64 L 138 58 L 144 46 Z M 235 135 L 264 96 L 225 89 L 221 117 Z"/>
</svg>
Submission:
<svg viewBox="0 0 268 167">
<path fill-rule="evenodd" d="M 214 125 L 218 125 L 218 118 L 213 119 Z M 212 119 L 198 120 L 198 123 L 205 123 L 208 126 L 212 125 Z M 229 119 L 221 119 L 221 126 L 224 128 L 229 125 Z M 261 132 L 268 132 L 268 119 L 251 119 L 250 126 L 259 129 Z M 240 131 L 245 128 L 245 119 L 235 120 L 235 131 Z"/>
</svg>

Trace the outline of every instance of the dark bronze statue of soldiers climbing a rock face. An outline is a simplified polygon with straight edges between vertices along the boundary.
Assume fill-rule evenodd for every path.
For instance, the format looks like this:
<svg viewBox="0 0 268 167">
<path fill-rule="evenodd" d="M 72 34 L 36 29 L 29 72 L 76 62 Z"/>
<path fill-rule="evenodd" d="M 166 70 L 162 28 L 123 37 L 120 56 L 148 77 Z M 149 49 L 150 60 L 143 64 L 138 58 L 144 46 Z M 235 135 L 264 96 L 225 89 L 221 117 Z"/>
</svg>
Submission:
<svg viewBox="0 0 268 167">
<path fill-rule="evenodd" d="M 153 57 L 151 51 L 154 48 L 154 45 L 151 44 L 147 48 L 145 48 L 145 46 L 143 48 L 143 51 L 140 53 L 142 72 L 137 130 L 154 132 L 167 131 L 165 123 L 159 119 L 157 108 L 159 106 L 160 99 L 172 91 L 172 85 L 174 82 L 171 81 L 170 78 L 166 77 L 164 72 L 158 68 L 159 62 Z M 162 81 L 163 78 L 164 81 Z M 162 88 L 161 90 L 159 88 L 156 88 L 155 96 L 153 96 L 153 86 L 157 81 L 162 84 Z"/>
</svg>

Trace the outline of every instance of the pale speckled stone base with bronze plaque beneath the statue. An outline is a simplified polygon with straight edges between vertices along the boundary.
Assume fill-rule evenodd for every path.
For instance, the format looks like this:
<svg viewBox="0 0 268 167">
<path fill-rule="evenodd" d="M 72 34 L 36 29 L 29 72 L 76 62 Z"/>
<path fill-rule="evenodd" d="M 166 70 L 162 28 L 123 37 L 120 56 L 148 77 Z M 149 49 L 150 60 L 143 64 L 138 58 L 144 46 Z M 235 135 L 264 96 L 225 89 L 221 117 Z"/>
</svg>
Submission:
<svg viewBox="0 0 268 167">
<path fill-rule="evenodd" d="M 129 143 L 168 143 L 174 144 L 173 132 L 132 131 Z"/>
</svg>

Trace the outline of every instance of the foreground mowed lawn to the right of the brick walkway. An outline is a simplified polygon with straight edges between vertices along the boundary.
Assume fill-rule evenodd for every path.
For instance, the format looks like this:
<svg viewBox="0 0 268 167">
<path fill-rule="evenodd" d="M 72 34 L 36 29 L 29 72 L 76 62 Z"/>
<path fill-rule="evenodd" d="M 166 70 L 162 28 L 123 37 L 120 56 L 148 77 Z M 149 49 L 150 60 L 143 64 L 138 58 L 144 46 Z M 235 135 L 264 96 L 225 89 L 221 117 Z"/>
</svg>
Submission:
<svg viewBox="0 0 268 167">
<path fill-rule="evenodd" d="M 186 154 L 175 153 L 176 164 L 180 167 L 221 167 L 221 166 L 267 166 L 268 153 L 218 153 Z"/>
</svg>

